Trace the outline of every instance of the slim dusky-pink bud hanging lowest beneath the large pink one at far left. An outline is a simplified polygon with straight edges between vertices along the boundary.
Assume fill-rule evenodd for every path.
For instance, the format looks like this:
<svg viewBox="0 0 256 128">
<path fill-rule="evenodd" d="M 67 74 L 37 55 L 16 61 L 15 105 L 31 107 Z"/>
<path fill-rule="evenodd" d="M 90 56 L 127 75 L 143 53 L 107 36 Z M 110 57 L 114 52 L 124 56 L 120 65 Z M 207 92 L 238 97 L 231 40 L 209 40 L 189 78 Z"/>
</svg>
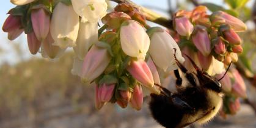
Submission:
<svg viewBox="0 0 256 128">
<path fill-rule="evenodd" d="M 35 37 L 35 32 L 27 34 L 27 44 L 29 45 L 29 51 L 31 54 L 37 54 L 41 46 L 41 42 L 37 40 L 37 37 Z"/>
</svg>

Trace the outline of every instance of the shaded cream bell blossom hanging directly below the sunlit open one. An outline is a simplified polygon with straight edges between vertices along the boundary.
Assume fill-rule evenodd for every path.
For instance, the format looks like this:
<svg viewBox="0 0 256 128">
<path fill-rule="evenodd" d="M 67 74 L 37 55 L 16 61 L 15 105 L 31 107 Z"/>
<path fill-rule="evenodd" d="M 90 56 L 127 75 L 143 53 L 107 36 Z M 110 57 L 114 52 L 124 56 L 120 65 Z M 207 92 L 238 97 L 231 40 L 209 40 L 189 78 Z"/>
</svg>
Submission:
<svg viewBox="0 0 256 128">
<path fill-rule="evenodd" d="M 76 46 L 73 48 L 78 59 L 83 60 L 89 48 L 98 41 L 98 23 L 80 23 Z"/>
</svg>

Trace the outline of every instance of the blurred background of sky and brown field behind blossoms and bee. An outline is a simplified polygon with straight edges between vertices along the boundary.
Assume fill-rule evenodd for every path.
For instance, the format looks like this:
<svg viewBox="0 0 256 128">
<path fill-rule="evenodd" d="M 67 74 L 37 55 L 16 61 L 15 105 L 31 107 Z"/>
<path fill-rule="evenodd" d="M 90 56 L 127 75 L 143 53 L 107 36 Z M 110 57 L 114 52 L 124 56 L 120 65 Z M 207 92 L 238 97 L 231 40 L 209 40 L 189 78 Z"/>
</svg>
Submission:
<svg viewBox="0 0 256 128">
<path fill-rule="evenodd" d="M 134 0 L 139 5 L 155 10 L 164 16 L 178 9 L 192 10 L 196 4 L 210 5 L 213 9 L 230 9 L 227 1 L 175 1 L 175 0 Z M 109 2 L 109 9 L 114 7 Z M 0 24 L 12 7 L 9 1 L 1 1 Z M 219 7 L 219 8 L 218 8 Z M 221 8 L 220 8 L 221 7 Z M 239 10 L 240 18 L 246 22 L 248 30 L 243 33 L 244 54 L 240 59 L 247 63 L 251 73 L 256 71 L 254 63 L 256 36 L 254 24 L 254 0 L 246 1 Z M 210 8 L 209 8 L 210 9 Z M 43 59 L 41 54 L 31 55 L 27 48 L 26 36 L 14 41 L 7 39 L 7 33 L 0 31 L 0 128 L 153 128 L 159 126 L 144 107 L 136 111 L 130 107 L 122 109 L 107 104 L 101 110 L 95 108 L 94 88 L 82 85 L 79 77 L 71 74 L 73 53 L 66 52 L 60 59 Z M 250 58 L 250 61 L 247 61 Z M 241 101 L 236 115 L 214 118 L 205 126 L 191 127 L 256 127 L 255 87 L 247 81 L 250 102 Z"/>
</svg>

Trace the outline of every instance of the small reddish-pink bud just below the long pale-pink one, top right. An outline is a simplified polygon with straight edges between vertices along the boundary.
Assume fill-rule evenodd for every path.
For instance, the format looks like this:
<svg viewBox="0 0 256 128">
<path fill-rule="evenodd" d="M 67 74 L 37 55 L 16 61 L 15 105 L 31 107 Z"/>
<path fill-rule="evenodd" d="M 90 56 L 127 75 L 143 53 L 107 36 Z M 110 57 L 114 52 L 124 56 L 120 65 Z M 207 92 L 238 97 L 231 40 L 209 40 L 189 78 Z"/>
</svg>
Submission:
<svg viewBox="0 0 256 128">
<path fill-rule="evenodd" d="M 241 44 L 241 38 L 238 34 L 232 29 L 225 30 L 223 32 L 225 40 L 229 41 L 230 44 L 239 45 Z"/>
</svg>

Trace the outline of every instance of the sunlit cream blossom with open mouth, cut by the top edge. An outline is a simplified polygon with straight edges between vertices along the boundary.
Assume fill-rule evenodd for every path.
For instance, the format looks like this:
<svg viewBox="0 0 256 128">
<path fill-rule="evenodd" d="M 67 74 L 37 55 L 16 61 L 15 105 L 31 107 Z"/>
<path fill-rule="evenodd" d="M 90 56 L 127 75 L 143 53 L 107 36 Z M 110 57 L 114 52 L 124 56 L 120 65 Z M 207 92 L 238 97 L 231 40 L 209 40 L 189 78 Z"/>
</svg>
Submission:
<svg viewBox="0 0 256 128">
<path fill-rule="evenodd" d="M 71 0 L 75 12 L 81 16 L 81 22 L 97 22 L 106 15 L 108 4 L 105 0 Z"/>
</svg>

